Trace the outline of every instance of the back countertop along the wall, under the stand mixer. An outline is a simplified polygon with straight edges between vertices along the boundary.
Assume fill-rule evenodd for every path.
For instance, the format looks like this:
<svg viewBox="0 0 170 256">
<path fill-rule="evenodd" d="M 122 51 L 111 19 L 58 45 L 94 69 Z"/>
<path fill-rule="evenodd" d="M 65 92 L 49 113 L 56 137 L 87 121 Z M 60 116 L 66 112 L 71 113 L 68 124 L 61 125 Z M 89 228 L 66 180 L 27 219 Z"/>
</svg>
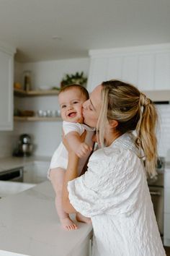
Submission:
<svg viewBox="0 0 170 256">
<path fill-rule="evenodd" d="M 50 163 L 50 157 L 48 156 L 30 156 L 30 157 L 8 157 L 0 158 L 0 172 L 10 170 L 12 168 L 18 168 L 27 166 L 35 161 L 45 161 Z"/>
</svg>

